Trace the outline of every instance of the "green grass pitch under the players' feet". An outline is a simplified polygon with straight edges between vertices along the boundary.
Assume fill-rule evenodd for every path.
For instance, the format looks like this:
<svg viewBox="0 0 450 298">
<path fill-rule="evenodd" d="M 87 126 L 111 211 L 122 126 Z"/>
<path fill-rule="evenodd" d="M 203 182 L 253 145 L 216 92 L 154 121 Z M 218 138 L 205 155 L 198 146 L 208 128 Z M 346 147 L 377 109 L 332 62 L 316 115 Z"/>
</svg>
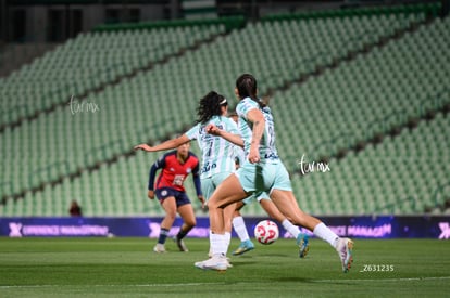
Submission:
<svg viewBox="0 0 450 298">
<path fill-rule="evenodd" d="M 352 270 L 312 239 L 305 259 L 293 239 L 240 257 L 225 273 L 203 271 L 208 239 L 187 238 L 189 252 L 167 239 L 0 237 L 0 297 L 442 297 L 449 295 L 450 242 L 355 239 Z M 238 241 L 232 241 L 230 250 Z"/>
</svg>

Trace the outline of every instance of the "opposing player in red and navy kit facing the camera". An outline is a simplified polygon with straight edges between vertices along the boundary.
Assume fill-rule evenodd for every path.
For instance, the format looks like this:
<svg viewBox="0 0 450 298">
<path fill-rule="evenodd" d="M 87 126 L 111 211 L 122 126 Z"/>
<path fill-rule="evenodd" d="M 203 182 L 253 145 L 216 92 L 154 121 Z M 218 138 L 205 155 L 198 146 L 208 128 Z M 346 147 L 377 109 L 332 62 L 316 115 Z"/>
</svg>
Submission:
<svg viewBox="0 0 450 298">
<path fill-rule="evenodd" d="M 161 156 L 150 169 L 148 196 L 150 199 L 153 199 L 154 195 L 157 195 L 165 211 L 165 217 L 161 222 L 160 236 L 153 248 L 155 252 L 165 252 L 164 243 L 177 212 L 183 219 L 183 225 L 174 241 L 180 251 L 188 251 L 183 238 L 196 225 L 192 205 L 183 185 L 189 173 L 193 176 L 197 196 L 203 207 L 204 199 L 200 187 L 199 159 L 193 153 L 189 152 L 189 143 L 182 144 L 176 151 L 171 151 Z M 161 173 L 158 177 L 157 183 L 154 183 L 155 173 L 160 169 Z"/>
</svg>

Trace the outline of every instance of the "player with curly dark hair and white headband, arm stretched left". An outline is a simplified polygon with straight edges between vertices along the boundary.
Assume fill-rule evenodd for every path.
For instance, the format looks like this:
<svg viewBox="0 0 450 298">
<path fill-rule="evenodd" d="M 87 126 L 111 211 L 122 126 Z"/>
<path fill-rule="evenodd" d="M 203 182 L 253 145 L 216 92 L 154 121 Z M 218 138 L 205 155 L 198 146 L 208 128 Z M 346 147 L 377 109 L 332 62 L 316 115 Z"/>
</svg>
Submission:
<svg viewBox="0 0 450 298">
<path fill-rule="evenodd" d="M 200 171 L 201 190 L 205 204 L 208 205 L 208 199 L 217 185 L 235 171 L 235 145 L 221 137 L 209 134 L 205 131 L 207 126 L 214 125 L 230 133 L 238 133 L 236 122 L 226 116 L 227 111 L 227 100 L 215 91 L 211 91 L 200 100 L 197 124 L 186 133 L 155 146 L 140 144 L 135 148 L 155 152 L 174 148 L 190 140 L 197 140 L 202 152 L 202 166 Z M 235 208 L 235 204 L 232 204 L 224 210 L 227 247 L 229 246 L 232 237 L 232 217 Z"/>
</svg>

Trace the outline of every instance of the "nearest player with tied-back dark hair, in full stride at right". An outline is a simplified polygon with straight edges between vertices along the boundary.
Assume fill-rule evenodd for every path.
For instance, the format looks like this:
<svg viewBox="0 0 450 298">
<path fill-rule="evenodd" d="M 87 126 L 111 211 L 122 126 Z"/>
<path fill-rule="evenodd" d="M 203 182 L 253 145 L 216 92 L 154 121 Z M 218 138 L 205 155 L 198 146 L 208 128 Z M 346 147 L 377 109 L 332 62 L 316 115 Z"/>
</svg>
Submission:
<svg viewBox="0 0 450 298">
<path fill-rule="evenodd" d="M 224 271 L 226 257 L 224 208 L 242 200 L 250 194 L 267 192 L 278 210 L 293 224 L 312 231 L 315 236 L 328 242 L 338 252 L 342 271 L 350 270 L 353 242 L 336 235 L 321 220 L 303 212 L 293 196 L 289 174 L 278 157 L 275 146 L 275 128 L 271 109 L 257 98 L 257 80 L 243 74 L 236 80 L 235 93 L 239 100 L 236 111 L 239 115 L 240 137 L 220 130 L 213 126 L 210 133 L 221 135 L 245 147 L 247 160 L 222 182 L 209 199 L 211 247 L 213 257 L 196 262 L 202 269 Z M 308 239 L 305 239 L 308 244 Z"/>
</svg>

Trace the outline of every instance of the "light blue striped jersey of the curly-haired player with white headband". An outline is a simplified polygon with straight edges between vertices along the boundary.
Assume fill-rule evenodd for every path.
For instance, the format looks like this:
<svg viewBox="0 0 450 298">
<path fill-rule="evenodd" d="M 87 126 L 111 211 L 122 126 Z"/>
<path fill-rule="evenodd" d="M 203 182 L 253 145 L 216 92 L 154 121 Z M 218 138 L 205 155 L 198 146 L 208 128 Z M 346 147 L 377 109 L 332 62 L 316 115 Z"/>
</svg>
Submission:
<svg viewBox="0 0 450 298">
<path fill-rule="evenodd" d="M 235 121 L 224 116 L 213 116 L 207 124 L 197 124 L 186 132 L 189 140 L 197 140 L 202 152 L 201 179 L 235 171 L 235 145 L 221 137 L 207 133 L 204 129 L 210 124 L 230 133 L 239 133 Z"/>
</svg>

